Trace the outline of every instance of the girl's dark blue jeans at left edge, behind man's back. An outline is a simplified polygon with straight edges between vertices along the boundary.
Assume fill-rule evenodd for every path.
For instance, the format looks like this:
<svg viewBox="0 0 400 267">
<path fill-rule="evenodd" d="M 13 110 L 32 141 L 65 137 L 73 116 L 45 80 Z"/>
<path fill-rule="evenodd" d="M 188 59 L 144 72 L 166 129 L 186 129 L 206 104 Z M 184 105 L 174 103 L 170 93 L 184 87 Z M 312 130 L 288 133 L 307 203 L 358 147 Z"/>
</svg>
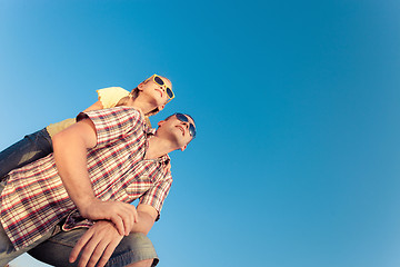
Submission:
<svg viewBox="0 0 400 267">
<path fill-rule="evenodd" d="M 0 152 L 0 180 L 13 169 L 23 167 L 52 152 L 49 132 L 44 129 L 26 136 Z"/>
</svg>

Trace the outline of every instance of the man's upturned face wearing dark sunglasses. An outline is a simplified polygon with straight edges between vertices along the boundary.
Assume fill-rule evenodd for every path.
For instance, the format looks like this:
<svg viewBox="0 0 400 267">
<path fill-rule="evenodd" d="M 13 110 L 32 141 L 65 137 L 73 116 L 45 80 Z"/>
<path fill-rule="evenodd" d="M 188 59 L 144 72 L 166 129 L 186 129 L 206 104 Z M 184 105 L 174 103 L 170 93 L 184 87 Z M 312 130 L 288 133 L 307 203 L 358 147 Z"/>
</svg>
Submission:
<svg viewBox="0 0 400 267">
<path fill-rule="evenodd" d="M 194 121 L 187 115 L 177 113 L 159 122 L 159 135 L 172 141 L 182 151 L 196 136 Z"/>
</svg>

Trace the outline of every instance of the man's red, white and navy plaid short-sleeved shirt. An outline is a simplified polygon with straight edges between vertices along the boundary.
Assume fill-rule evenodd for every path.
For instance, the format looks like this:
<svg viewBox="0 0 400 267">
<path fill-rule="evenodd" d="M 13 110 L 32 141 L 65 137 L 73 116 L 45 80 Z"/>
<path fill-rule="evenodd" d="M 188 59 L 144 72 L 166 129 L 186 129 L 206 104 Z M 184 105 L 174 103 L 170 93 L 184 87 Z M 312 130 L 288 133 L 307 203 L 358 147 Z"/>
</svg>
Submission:
<svg viewBox="0 0 400 267">
<path fill-rule="evenodd" d="M 97 146 L 88 150 L 94 194 L 102 200 L 151 205 L 160 212 L 171 187 L 168 155 L 144 160 L 151 130 L 133 108 L 119 107 L 80 113 L 97 130 Z M 69 198 L 52 155 L 9 174 L 1 194 L 0 221 L 16 249 L 41 238 L 77 207 Z M 67 227 L 68 228 L 68 227 Z"/>
</svg>

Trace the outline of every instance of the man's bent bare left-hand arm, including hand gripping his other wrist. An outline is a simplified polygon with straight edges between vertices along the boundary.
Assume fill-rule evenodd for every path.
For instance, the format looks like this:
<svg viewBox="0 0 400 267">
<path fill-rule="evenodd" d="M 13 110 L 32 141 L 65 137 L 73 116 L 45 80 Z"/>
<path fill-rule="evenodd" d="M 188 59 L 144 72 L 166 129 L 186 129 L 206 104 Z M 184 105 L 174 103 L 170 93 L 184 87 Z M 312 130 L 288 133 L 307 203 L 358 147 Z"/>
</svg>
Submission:
<svg viewBox="0 0 400 267">
<path fill-rule="evenodd" d="M 87 167 L 87 149 L 97 145 L 93 122 L 83 119 L 53 138 L 56 165 L 68 195 L 80 214 L 89 219 L 108 219 L 121 235 L 129 235 L 137 218 L 132 205 L 96 198 Z"/>
</svg>

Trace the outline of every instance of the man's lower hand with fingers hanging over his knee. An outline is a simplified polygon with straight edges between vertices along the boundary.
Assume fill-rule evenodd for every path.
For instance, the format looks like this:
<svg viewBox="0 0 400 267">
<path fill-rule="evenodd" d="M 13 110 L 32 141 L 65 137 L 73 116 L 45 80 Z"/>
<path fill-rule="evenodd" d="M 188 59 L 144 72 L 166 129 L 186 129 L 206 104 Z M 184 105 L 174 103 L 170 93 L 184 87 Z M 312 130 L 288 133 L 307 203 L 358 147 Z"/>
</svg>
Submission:
<svg viewBox="0 0 400 267">
<path fill-rule="evenodd" d="M 99 220 L 78 240 L 70 254 L 69 261 L 74 263 L 82 251 L 78 267 L 102 267 L 107 264 L 122 238 L 123 236 L 118 234 L 116 227 L 110 221 Z M 99 264 L 96 265 L 98 261 Z"/>
</svg>

